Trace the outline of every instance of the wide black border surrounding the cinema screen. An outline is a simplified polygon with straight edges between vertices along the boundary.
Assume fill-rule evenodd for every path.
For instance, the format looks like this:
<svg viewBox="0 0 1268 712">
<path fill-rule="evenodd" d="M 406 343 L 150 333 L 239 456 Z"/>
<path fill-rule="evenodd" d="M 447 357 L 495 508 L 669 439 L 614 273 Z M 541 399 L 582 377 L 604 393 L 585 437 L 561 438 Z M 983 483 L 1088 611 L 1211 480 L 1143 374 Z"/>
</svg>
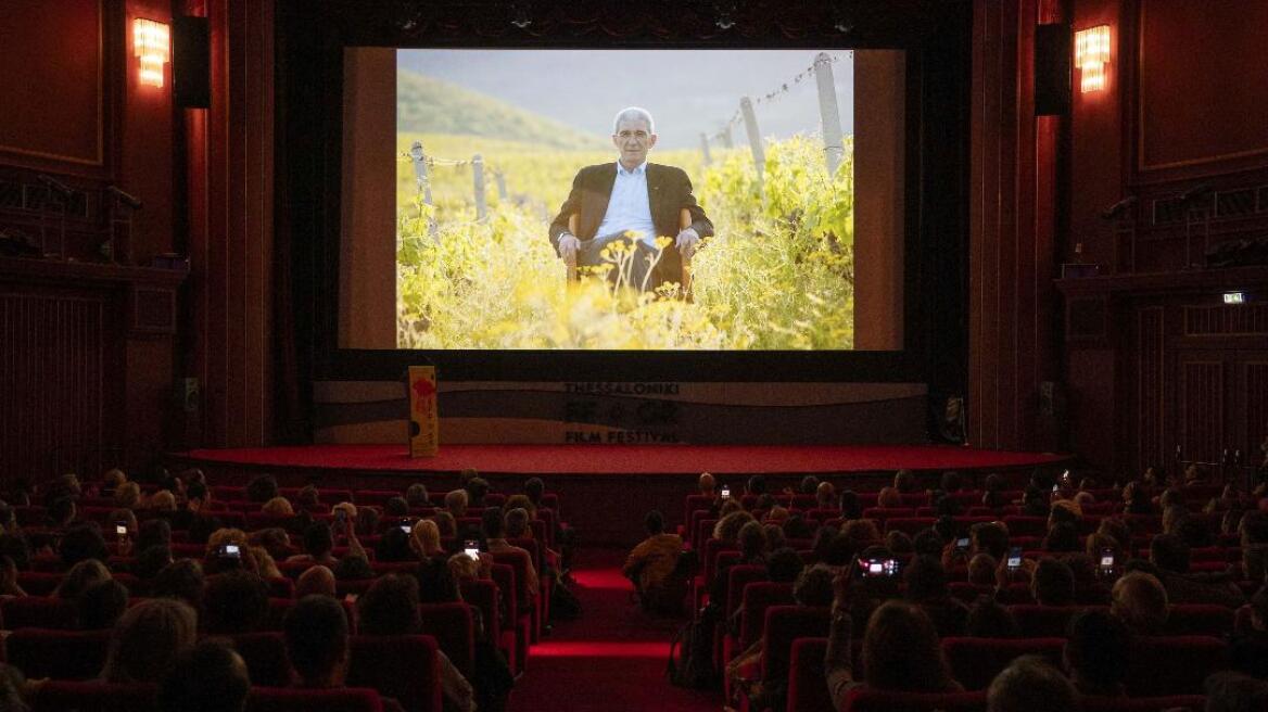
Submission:
<svg viewBox="0 0 1268 712">
<path fill-rule="evenodd" d="M 440 0 L 439 13 L 460 3 Z M 905 5 L 905 4 L 904 4 Z M 926 4 L 914 5 L 924 8 Z M 298 188 L 287 200 L 278 191 L 279 219 L 289 220 L 295 241 L 292 255 L 295 275 L 293 318 L 297 347 L 307 356 L 314 380 L 392 380 L 407 366 L 435 365 L 449 381 L 789 381 L 789 383 L 927 383 L 931 394 L 962 393 L 966 369 L 965 328 L 967 207 L 966 48 L 971 18 L 960 4 L 933 5 L 922 22 L 895 15 L 862 18 L 842 35 L 827 23 L 822 30 L 800 37 L 732 34 L 719 38 L 716 28 L 689 37 L 666 38 L 656 27 L 625 37 L 573 35 L 563 25 L 540 34 L 482 35 L 476 23 L 450 28 L 446 34 L 420 37 L 399 23 L 370 13 L 354 16 L 335 3 L 303 8 L 287 4 L 279 29 L 289 38 L 279 66 L 280 104 L 298 108 L 279 111 L 279 130 L 288 155 L 312 151 L 306 161 L 288 166 L 288 185 Z M 687 10 L 664 10 L 685 16 Z M 786 9 L 784 10 L 786 13 Z M 819 10 L 799 10 L 814 13 Z M 924 11 L 924 10 L 922 10 Z M 955 22 L 941 22 L 937 13 Z M 794 13 L 795 14 L 795 13 Z M 820 13 L 822 14 L 822 13 Z M 335 15 L 337 22 L 330 22 Z M 487 18 L 486 18 L 487 19 Z M 950 27 L 948 27 L 950 25 Z M 304 29 L 301 29 L 304 28 Z M 306 39 L 294 39 L 307 30 Z M 354 46 L 399 48 L 500 48 L 500 49 L 828 49 L 900 48 L 907 51 L 905 86 L 905 210 L 903 275 L 903 348 L 899 351 L 574 351 L 574 350 L 359 350 L 339 345 L 339 252 L 341 241 L 340 194 L 342 151 L 344 48 Z M 304 62 L 303 60 L 307 60 Z M 935 89 L 936 80 L 952 67 L 959 80 L 950 90 Z M 952 82 L 955 84 L 955 82 Z M 309 110 L 304 110 L 309 109 Z M 951 111 L 950 130 L 926 120 L 936 111 Z M 316 114 L 316 115 L 314 115 Z M 302 127 L 301 124 L 308 124 Z M 950 139 L 948 144 L 937 144 Z M 941 161 L 931 166 L 931 157 Z M 947 157 L 959 161 L 948 161 Z M 950 189 L 947 189 L 950 186 Z M 311 200 L 304 201 L 304 194 Z M 298 204 L 313 208 L 298 215 Z M 545 236 L 543 236 L 545 239 Z M 950 246 L 943 245 L 950 243 Z M 931 250 L 931 247 L 938 247 Z M 933 285 L 932 288 L 927 285 Z M 948 294 L 943 285 L 951 288 Z"/>
</svg>

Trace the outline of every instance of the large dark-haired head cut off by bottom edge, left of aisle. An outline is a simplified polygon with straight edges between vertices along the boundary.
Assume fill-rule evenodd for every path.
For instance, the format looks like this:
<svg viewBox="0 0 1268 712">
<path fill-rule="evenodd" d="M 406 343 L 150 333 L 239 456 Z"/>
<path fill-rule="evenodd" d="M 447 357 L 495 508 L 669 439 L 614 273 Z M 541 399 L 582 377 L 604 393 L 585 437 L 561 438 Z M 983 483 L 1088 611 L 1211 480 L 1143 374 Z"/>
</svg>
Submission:
<svg viewBox="0 0 1268 712">
<path fill-rule="evenodd" d="M 160 712 L 242 712 L 251 678 L 226 641 L 204 640 L 181 652 L 158 687 Z"/>
</svg>

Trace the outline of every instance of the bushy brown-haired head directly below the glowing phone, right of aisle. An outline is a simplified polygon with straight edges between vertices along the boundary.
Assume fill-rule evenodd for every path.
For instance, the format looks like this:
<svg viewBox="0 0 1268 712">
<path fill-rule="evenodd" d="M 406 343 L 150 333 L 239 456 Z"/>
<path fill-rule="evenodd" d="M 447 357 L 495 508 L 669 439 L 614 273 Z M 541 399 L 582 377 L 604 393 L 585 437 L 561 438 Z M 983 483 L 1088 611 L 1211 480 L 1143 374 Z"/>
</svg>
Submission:
<svg viewBox="0 0 1268 712">
<path fill-rule="evenodd" d="M 951 683 L 937 630 L 918 607 L 890 601 L 864 633 L 865 682 L 875 689 L 945 692 Z"/>
</svg>

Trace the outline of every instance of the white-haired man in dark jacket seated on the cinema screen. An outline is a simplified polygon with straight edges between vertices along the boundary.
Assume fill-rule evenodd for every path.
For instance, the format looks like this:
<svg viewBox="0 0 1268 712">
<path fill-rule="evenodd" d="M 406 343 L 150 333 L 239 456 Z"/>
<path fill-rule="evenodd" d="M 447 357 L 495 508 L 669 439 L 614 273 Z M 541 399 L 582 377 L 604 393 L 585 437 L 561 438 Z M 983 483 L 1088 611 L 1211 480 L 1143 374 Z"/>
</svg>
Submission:
<svg viewBox="0 0 1268 712">
<path fill-rule="evenodd" d="M 604 265 L 604 248 L 624 239 L 634 252 L 626 284 L 647 291 L 682 285 L 682 262 L 713 236 L 713 223 L 696 204 L 682 168 L 647 161 L 656 146 L 656 124 L 645 109 L 630 106 L 616 114 L 612 144 L 620 152 L 616 162 L 577 172 L 568 200 L 550 223 L 550 243 L 567 265 L 585 267 Z M 682 210 L 690 215 L 686 227 Z M 657 258 L 662 247 L 656 238 L 662 236 L 673 242 Z"/>
</svg>

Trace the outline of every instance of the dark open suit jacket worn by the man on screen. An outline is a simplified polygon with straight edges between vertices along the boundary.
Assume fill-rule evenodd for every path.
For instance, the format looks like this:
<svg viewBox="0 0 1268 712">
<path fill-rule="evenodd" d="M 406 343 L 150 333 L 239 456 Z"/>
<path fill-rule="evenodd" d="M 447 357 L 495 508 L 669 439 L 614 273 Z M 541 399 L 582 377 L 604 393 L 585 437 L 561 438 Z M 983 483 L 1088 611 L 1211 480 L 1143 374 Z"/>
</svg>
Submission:
<svg viewBox="0 0 1268 712">
<path fill-rule="evenodd" d="M 607 213 L 607 200 L 612 196 L 612 185 L 616 182 L 616 162 L 586 166 L 577 172 L 572 181 L 572 193 L 564 200 L 559 214 L 550 223 L 550 245 L 559 253 L 559 236 L 568 229 L 568 217 L 577 214 L 577 238 L 582 242 L 593 239 L 604 214 Z M 704 209 L 696 203 L 696 196 L 691 194 L 691 179 L 686 171 L 673 166 L 659 163 L 647 165 L 647 195 L 648 205 L 652 208 L 652 222 L 656 224 L 656 234 L 677 237 L 678 215 L 686 208 L 691 213 L 691 227 L 696 228 L 701 238 L 713 236 L 713 223 L 705 215 Z M 675 246 L 666 248 L 656 266 L 656 284 L 666 281 L 682 281 L 682 257 Z"/>
</svg>

